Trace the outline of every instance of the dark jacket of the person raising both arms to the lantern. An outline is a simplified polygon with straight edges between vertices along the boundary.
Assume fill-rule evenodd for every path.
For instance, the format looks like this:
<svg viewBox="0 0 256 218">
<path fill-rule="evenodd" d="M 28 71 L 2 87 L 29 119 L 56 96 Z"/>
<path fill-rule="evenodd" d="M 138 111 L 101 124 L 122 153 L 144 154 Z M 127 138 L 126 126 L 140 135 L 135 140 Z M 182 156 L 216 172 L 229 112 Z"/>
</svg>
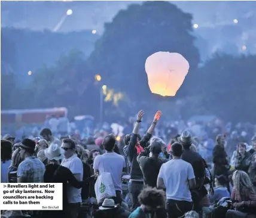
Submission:
<svg viewBox="0 0 256 218">
<path fill-rule="evenodd" d="M 147 147 L 147 143 L 150 141 L 151 136 L 151 134 L 146 133 L 146 135 L 142 137 L 141 141 L 139 141 L 139 144 L 142 148 Z M 138 157 L 137 150 L 135 148 L 135 145 L 137 144 L 137 138 L 138 135 L 132 133 L 129 145 L 124 147 L 124 154 L 128 158 L 130 166 L 130 179 L 143 179 L 141 168 L 139 167 L 139 163 L 136 159 Z"/>
</svg>

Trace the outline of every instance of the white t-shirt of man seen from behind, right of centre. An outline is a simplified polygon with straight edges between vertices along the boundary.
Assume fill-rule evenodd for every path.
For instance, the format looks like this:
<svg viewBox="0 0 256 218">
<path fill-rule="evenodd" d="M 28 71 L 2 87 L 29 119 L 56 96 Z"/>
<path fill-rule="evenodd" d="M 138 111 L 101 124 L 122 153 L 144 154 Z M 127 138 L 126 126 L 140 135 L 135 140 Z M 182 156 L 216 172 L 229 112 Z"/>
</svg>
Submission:
<svg viewBox="0 0 256 218">
<path fill-rule="evenodd" d="M 184 160 L 170 160 L 162 164 L 159 172 L 166 186 L 166 198 L 177 201 L 192 201 L 188 179 L 194 179 L 194 170 Z"/>
</svg>

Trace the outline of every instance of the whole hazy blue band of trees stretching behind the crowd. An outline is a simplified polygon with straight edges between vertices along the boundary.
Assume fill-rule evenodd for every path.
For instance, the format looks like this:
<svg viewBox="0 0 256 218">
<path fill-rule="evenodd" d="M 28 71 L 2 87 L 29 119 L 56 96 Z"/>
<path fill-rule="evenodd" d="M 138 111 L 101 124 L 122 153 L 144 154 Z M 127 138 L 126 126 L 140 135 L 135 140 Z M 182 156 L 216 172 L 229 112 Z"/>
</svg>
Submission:
<svg viewBox="0 0 256 218">
<path fill-rule="evenodd" d="M 8 51 L 8 55 L 1 55 L 1 62 L 13 67 L 1 74 L 2 109 L 68 107 L 70 116 L 91 114 L 97 118 L 100 90 L 106 85 L 124 96 L 118 105 L 104 102 L 106 119 L 126 119 L 141 108 L 149 113 L 160 109 L 166 116 L 175 117 L 179 107 L 184 119 L 213 114 L 225 121 L 256 123 L 256 56 L 215 54 L 200 64 L 192 18 L 169 2 L 132 4 L 105 24 L 105 32 L 90 55 L 84 52 L 86 44 L 77 42 L 79 45 L 63 52 L 54 64 L 37 64 L 31 82 L 25 86 L 15 80 L 17 60 L 24 57 L 13 43 L 6 43 L 2 52 Z M 53 51 L 62 37 L 56 36 L 52 46 L 42 46 L 45 54 L 47 49 Z M 74 36 L 66 37 L 67 43 L 74 40 Z M 30 40 L 36 41 L 36 36 Z M 37 53 L 42 52 L 42 47 L 36 48 Z M 175 97 L 163 98 L 151 94 L 148 88 L 144 64 L 157 51 L 178 52 L 190 63 L 190 71 Z M 100 82 L 95 81 L 96 74 L 102 77 Z M 177 100 L 182 104 L 177 106 Z"/>
</svg>

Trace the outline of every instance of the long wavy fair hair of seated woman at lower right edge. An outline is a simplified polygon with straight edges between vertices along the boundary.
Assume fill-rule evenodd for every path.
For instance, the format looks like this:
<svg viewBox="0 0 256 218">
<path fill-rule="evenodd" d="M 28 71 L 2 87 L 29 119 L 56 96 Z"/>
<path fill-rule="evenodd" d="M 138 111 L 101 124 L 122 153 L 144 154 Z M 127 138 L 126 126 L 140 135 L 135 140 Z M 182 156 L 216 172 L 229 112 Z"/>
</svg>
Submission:
<svg viewBox="0 0 256 218">
<path fill-rule="evenodd" d="M 232 176 L 232 180 L 234 185 L 233 191 L 238 200 L 242 199 L 241 195 L 243 194 L 244 188 L 250 189 L 252 192 L 255 193 L 254 189 L 252 188 L 251 179 L 249 178 L 247 173 L 241 170 L 236 170 Z"/>
</svg>

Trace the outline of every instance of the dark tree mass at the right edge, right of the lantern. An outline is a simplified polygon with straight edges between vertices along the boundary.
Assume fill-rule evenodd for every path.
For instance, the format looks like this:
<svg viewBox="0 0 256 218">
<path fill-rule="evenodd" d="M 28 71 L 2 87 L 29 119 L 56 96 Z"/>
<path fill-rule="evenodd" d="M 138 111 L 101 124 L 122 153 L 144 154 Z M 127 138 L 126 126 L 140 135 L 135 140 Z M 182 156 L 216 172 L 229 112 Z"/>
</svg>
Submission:
<svg viewBox="0 0 256 218">
<path fill-rule="evenodd" d="M 256 123 L 256 55 L 217 54 L 199 70 L 206 109 L 226 121 Z"/>
</svg>

